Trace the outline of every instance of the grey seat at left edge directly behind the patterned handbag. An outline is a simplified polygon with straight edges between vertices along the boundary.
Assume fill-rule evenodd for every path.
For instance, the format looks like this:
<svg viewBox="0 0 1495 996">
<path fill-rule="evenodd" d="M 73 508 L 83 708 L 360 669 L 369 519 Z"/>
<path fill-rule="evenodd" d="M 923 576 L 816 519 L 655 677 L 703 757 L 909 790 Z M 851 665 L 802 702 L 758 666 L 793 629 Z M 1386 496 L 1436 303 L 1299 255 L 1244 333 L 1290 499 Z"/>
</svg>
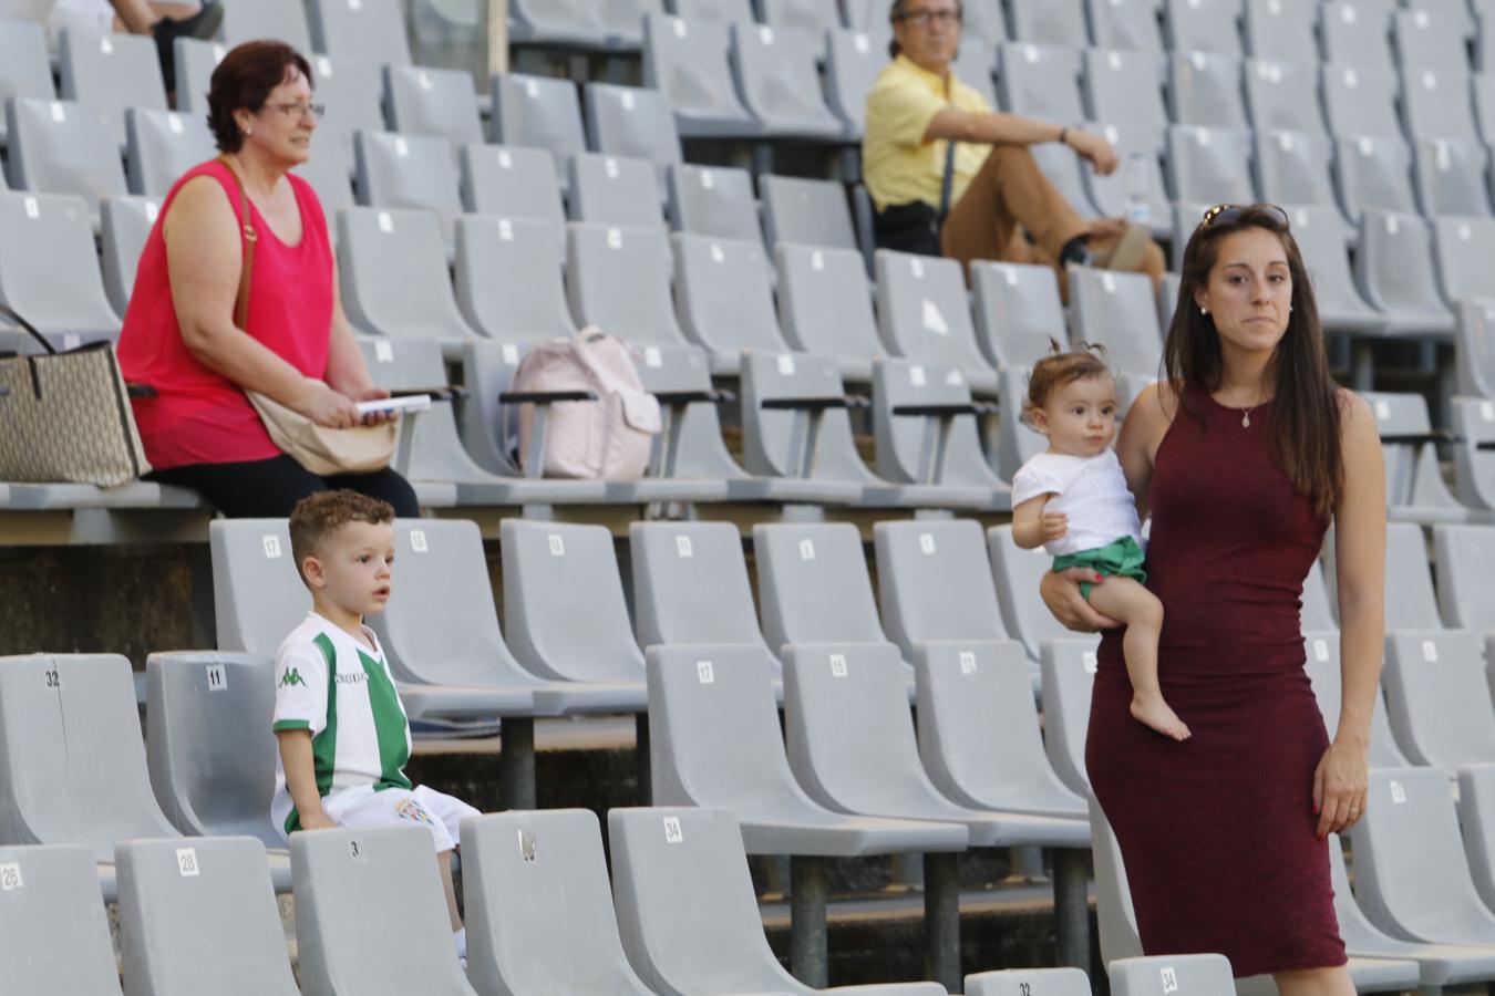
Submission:
<svg viewBox="0 0 1495 996">
<path fill-rule="evenodd" d="M 58 349 L 118 337 L 82 200 L 0 191 L 0 302 Z M 6 337 L 28 343 L 12 349 L 39 349 L 21 333 Z"/>
</svg>

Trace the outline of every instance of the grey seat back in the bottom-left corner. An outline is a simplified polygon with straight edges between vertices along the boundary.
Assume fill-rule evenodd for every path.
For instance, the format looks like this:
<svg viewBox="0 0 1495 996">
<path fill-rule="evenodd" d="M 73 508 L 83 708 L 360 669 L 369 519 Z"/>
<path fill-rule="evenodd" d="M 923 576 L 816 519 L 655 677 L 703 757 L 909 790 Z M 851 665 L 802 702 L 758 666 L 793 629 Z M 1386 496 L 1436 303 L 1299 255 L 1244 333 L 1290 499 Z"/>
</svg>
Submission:
<svg viewBox="0 0 1495 996">
<path fill-rule="evenodd" d="M 120 996 L 99 874 L 87 848 L 0 847 L 0 960 L 18 993 Z M 13 883 L 13 884 L 12 884 Z"/>
</svg>

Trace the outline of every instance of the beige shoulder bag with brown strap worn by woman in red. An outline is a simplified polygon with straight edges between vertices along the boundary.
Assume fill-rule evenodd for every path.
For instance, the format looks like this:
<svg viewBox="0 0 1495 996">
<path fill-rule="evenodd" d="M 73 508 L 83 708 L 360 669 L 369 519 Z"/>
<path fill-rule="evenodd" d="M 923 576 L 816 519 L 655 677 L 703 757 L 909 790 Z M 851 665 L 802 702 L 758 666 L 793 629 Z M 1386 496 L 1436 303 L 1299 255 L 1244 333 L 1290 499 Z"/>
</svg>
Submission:
<svg viewBox="0 0 1495 996">
<path fill-rule="evenodd" d="M 254 272 L 254 243 L 259 234 L 250 221 L 250 197 L 239 179 L 239 170 L 227 155 L 218 160 L 229 167 L 239 188 L 239 222 L 244 227 L 244 266 L 239 267 L 239 297 L 233 306 L 233 324 L 248 330 L 250 276 Z M 318 426 L 300 412 L 286 408 L 259 391 L 244 393 L 254 411 L 260 414 L 271 442 L 281 451 L 318 476 L 335 473 L 372 473 L 389 466 L 395 455 L 395 423 L 383 426 L 354 426 L 353 429 L 327 429 Z"/>
</svg>

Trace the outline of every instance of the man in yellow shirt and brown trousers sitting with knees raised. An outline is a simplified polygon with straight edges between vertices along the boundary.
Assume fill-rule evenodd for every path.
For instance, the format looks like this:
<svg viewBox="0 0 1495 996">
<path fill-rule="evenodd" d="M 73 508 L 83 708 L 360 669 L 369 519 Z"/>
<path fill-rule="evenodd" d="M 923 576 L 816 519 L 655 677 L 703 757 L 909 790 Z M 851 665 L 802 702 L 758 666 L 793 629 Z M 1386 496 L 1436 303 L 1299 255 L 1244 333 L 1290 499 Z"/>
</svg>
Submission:
<svg viewBox="0 0 1495 996">
<path fill-rule="evenodd" d="M 1157 285 L 1163 251 L 1121 218 L 1085 221 L 1029 152 L 1063 142 L 1099 173 L 1117 167 L 1100 136 L 993 111 L 955 79 L 960 0 L 893 0 L 893 63 L 867 94 L 863 181 L 879 248 L 972 260 L 1082 263 L 1136 270 Z"/>
</svg>

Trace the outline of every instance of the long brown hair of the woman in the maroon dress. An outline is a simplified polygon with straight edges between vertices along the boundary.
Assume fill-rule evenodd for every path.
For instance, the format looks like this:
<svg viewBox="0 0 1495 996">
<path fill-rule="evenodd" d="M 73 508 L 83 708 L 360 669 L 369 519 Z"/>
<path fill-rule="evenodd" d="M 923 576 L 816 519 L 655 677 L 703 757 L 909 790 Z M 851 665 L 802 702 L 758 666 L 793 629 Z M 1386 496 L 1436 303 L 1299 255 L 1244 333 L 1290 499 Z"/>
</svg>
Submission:
<svg viewBox="0 0 1495 996">
<path fill-rule="evenodd" d="M 1329 518 L 1344 493 L 1340 387 L 1329 376 L 1319 303 L 1302 252 L 1277 211 L 1251 205 L 1242 208 L 1238 217 L 1215 218 L 1195 228 L 1184 249 L 1183 282 L 1163 346 L 1163 367 L 1174 397 L 1190 415 L 1203 420 L 1203 412 L 1184 393 L 1184 385 L 1209 393 L 1220 390 L 1223 361 L 1220 333 L 1214 320 L 1200 312 L 1195 294 L 1208 287 L 1221 240 L 1247 228 L 1262 228 L 1281 239 L 1293 281 L 1287 332 L 1272 351 L 1265 373 L 1265 387 L 1272 397 L 1268 446 L 1296 491 L 1311 497 L 1314 511 Z"/>
</svg>

